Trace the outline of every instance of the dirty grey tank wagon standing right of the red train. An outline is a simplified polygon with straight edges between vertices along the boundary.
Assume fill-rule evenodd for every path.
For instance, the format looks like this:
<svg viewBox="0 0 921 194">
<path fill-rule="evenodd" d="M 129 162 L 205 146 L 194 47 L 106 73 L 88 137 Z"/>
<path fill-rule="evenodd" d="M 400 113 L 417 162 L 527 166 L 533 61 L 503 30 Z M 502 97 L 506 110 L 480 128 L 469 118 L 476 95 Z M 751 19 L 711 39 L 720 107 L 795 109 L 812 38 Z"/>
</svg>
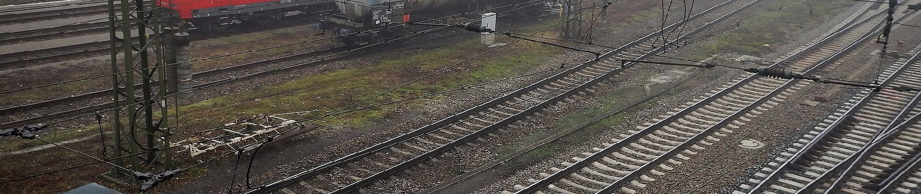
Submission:
<svg viewBox="0 0 921 194">
<path fill-rule="evenodd" d="M 386 22 L 420 22 L 462 13 L 463 17 L 479 18 L 479 10 L 502 13 L 519 19 L 536 18 L 549 11 L 553 4 L 534 0 L 337 0 L 339 12 L 322 14 L 321 28 L 333 35 L 345 35 L 336 40 L 344 45 L 361 45 L 404 36 L 410 27 L 391 28 Z M 517 5 L 517 6 L 511 6 Z M 494 8 L 502 7 L 502 8 Z M 412 16 L 411 16 L 412 15 Z M 434 21 L 430 21 L 433 22 Z M 356 33 L 358 32 L 358 33 Z"/>
</svg>

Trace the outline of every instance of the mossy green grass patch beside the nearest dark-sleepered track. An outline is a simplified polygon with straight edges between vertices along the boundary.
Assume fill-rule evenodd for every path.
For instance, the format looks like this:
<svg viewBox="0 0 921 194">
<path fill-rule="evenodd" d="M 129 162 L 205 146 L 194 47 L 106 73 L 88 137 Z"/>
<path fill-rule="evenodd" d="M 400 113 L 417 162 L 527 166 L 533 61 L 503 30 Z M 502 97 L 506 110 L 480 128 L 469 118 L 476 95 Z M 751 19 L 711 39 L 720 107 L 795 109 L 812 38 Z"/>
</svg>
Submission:
<svg viewBox="0 0 921 194">
<path fill-rule="evenodd" d="M 417 84 L 404 86 L 369 100 L 362 107 L 510 76 L 519 70 L 528 69 L 530 64 L 541 63 L 547 56 L 553 55 L 552 52 L 559 51 L 543 46 L 521 50 L 525 46 L 527 45 L 511 46 L 512 49 L 507 51 L 512 53 L 486 55 L 483 59 L 477 60 L 477 63 L 460 65 L 446 72 L 449 74 L 436 74 Z M 372 97 L 391 87 L 400 86 L 453 62 L 460 62 L 472 56 L 473 52 L 477 52 L 471 51 L 471 48 L 480 47 L 478 41 L 468 40 L 455 46 L 410 54 L 402 59 L 373 63 L 357 69 L 311 75 L 277 86 L 264 86 L 251 92 L 215 97 L 181 108 L 181 113 L 194 112 L 181 114 L 181 118 L 187 120 L 184 123 L 194 126 L 192 129 L 205 129 L 215 126 L 216 123 L 253 114 L 314 108 L 335 110 Z M 325 113 L 311 113 L 305 117 L 319 117 Z M 363 128 L 386 119 L 390 114 L 394 112 L 387 108 L 371 108 L 324 121 L 326 124 L 347 124 L 353 128 Z"/>
</svg>

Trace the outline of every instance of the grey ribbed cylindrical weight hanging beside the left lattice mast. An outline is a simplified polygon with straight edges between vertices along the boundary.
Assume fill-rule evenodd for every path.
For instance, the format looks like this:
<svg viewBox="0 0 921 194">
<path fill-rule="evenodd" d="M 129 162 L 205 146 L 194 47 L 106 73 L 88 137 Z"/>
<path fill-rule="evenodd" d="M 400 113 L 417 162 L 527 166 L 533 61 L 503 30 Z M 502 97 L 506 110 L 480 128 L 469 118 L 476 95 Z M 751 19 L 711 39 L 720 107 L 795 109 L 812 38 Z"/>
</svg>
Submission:
<svg viewBox="0 0 921 194">
<path fill-rule="evenodd" d="M 189 33 L 180 32 L 175 34 L 176 40 L 176 79 L 177 87 L 179 92 L 179 97 L 188 98 L 192 97 L 192 63 L 187 63 L 191 60 L 191 55 L 189 54 Z"/>
</svg>

